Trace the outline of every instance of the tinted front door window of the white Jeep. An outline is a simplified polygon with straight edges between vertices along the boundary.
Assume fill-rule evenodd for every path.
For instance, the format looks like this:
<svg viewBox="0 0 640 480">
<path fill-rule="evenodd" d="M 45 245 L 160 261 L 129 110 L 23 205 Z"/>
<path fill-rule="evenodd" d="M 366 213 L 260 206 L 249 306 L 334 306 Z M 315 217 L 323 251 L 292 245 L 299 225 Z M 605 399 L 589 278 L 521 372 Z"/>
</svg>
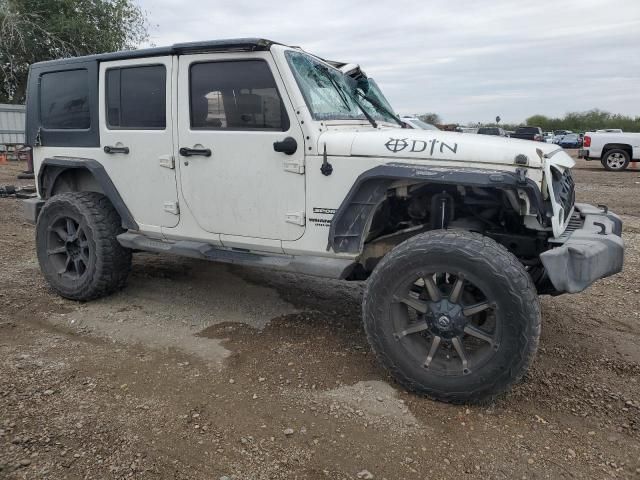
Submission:
<svg viewBox="0 0 640 480">
<path fill-rule="evenodd" d="M 192 128 L 289 129 L 275 80 L 262 60 L 193 64 L 189 89 Z"/>
</svg>

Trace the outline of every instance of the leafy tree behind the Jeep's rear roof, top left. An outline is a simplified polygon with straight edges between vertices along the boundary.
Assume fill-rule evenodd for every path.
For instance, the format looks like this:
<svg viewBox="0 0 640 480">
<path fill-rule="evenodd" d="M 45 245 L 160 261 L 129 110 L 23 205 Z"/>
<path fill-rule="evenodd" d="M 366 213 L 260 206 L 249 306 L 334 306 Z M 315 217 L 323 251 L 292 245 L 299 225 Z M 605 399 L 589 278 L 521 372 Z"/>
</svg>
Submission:
<svg viewBox="0 0 640 480">
<path fill-rule="evenodd" d="M 131 50 L 148 38 L 134 0 L 0 0 L 0 103 L 23 103 L 29 65 Z"/>
</svg>

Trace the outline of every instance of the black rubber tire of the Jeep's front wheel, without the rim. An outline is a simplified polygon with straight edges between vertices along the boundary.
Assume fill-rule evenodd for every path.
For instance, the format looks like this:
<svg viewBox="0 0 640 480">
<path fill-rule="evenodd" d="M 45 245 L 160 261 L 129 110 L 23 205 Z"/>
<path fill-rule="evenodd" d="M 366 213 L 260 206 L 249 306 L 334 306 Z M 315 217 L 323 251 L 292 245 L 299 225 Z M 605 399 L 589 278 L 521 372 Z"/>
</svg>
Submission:
<svg viewBox="0 0 640 480">
<path fill-rule="evenodd" d="M 397 334 L 394 337 L 394 285 L 407 275 L 439 271 L 439 266 L 481 281 L 494 297 L 494 318 L 502 322 L 493 356 L 465 375 L 425 369 L 408 355 Z M 459 230 L 416 235 L 389 252 L 369 278 L 363 316 L 369 343 L 393 378 L 407 390 L 450 403 L 486 403 L 508 390 L 531 365 L 540 337 L 538 296 L 523 265 L 494 240 Z"/>
</svg>

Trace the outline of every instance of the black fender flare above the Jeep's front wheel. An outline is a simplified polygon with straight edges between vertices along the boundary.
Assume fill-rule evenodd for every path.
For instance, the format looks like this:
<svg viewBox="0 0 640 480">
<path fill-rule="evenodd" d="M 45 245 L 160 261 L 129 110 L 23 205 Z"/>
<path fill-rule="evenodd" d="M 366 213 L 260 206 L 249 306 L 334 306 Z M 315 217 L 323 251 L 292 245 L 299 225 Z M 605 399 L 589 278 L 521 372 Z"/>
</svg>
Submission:
<svg viewBox="0 0 640 480">
<path fill-rule="evenodd" d="M 329 228 L 327 250 L 335 253 L 362 252 L 366 233 L 378 205 L 386 198 L 390 185 L 398 180 L 439 185 L 522 189 L 529 196 L 531 213 L 546 223 L 547 209 L 536 182 L 527 178 L 526 169 L 515 172 L 479 168 L 430 167 L 389 163 L 362 173 L 336 211 Z"/>
</svg>

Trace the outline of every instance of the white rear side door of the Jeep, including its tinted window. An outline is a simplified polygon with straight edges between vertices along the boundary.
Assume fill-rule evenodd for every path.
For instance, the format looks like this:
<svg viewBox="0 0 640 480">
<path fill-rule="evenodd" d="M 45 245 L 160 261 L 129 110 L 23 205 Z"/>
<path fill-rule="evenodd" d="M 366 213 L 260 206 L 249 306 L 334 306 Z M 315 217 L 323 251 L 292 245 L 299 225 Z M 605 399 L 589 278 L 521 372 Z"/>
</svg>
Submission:
<svg viewBox="0 0 640 480">
<path fill-rule="evenodd" d="M 100 65 L 100 163 L 140 229 L 179 220 L 172 123 L 171 56 Z"/>
</svg>

